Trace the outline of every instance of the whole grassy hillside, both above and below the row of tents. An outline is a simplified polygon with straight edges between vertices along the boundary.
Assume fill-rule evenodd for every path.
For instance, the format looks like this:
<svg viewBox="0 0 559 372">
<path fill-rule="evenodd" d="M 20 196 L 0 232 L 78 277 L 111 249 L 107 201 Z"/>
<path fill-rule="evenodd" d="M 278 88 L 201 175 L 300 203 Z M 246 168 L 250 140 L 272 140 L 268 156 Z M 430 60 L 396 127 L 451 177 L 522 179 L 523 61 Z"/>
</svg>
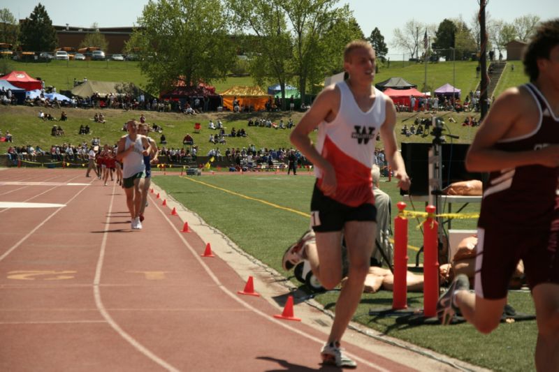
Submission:
<svg viewBox="0 0 559 372">
<path fill-rule="evenodd" d="M 509 66 L 504 70 L 500 84 L 496 93 L 500 93 L 507 87 L 511 87 L 528 81 L 522 71 L 520 61 L 512 61 L 509 64 L 515 64 L 515 70 L 512 71 Z M 104 81 L 126 81 L 134 82 L 138 85 L 145 84 L 145 77 L 141 75 L 138 64 L 132 61 L 50 61 L 49 63 L 24 63 L 21 61 L 9 61 L 10 68 L 14 70 L 25 70 L 29 75 L 41 77 L 46 84 L 54 85 L 58 90 L 68 89 L 72 87 L 73 79 L 82 80 L 87 77 L 89 80 Z M 477 80 L 475 78 L 476 62 L 456 61 L 439 62 L 427 65 L 427 82 L 428 86 L 436 89 L 442 84 L 449 82 L 453 84 L 456 80 L 456 87 L 462 89 L 467 94 L 470 90 L 475 89 Z M 392 63 L 391 68 L 382 67 L 375 77 L 376 82 L 381 82 L 389 77 L 403 77 L 405 80 L 417 84 L 421 89 L 425 80 L 424 64 L 403 64 Z M 224 82 L 215 82 L 217 91 L 224 91 L 233 85 L 252 85 L 251 77 L 229 77 Z M 82 141 L 90 142 L 92 137 L 101 137 L 103 143 L 114 143 L 123 134 L 122 124 L 131 118 L 140 117 L 140 112 L 126 112 L 122 110 L 104 110 L 107 122 L 106 124 L 98 124 L 92 121 L 94 116 L 93 110 L 70 109 L 68 113 L 68 121 L 63 124 L 66 135 L 63 137 L 52 137 L 50 128 L 53 123 L 41 121 L 37 118 L 37 107 L 0 107 L 0 129 L 3 133 L 9 130 L 14 136 L 14 144 L 21 146 L 22 144 L 41 145 L 43 149 L 50 147 L 52 144 L 72 143 L 79 144 Z M 46 110 L 54 117 L 60 117 L 60 110 Z M 247 147 L 249 144 L 255 144 L 256 147 L 290 147 L 289 131 L 273 130 L 270 128 L 248 128 L 248 117 L 264 117 L 272 121 L 280 119 L 293 119 L 298 123 L 302 114 L 300 112 L 256 112 L 253 114 L 231 114 L 231 113 L 210 113 L 198 115 L 196 117 L 185 116 L 176 113 L 157 113 L 144 112 L 147 122 L 157 123 L 164 128 L 164 133 L 168 140 L 168 147 L 182 147 L 182 138 L 186 133 L 194 136 L 196 144 L 198 144 L 199 154 L 207 154 L 210 147 L 215 145 L 208 142 L 208 137 L 212 131 L 205 129 L 210 119 L 222 120 L 227 128 L 231 131 L 232 127 L 245 128 L 249 133 L 247 138 L 231 138 L 228 139 L 226 145 L 219 146 L 223 150 L 226 147 Z M 455 142 L 468 143 L 471 142 L 476 131 L 475 128 L 463 127 L 460 125 L 465 114 L 455 114 L 449 112 L 440 112 L 439 116 L 447 118 L 447 130 L 449 133 L 460 136 Z M 479 118 L 479 113 L 475 114 Z M 400 129 L 404 124 L 409 124 L 416 117 L 426 117 L 425 114 L 398 114 L 397 133 L 399 142 L 430 142 L 430 136 L 411 136 L 405 137 L 400 135 Z M 449 117 L 453 117 L 457 124 L 451 124 Z M 201 133 L 193 133 L 194 123 L 200 122 L 204 128 Z M 92 128 L 92 134 L 88 136 L 78 135 L 80 125 L 88 124 Z M 159 140 L 159 135 L 155 136 Z M 8 144 L 0 143 L 0 154 L 4 154 Z M 382 147 L 382 143 L 379 144 Z"/>
</svg>

